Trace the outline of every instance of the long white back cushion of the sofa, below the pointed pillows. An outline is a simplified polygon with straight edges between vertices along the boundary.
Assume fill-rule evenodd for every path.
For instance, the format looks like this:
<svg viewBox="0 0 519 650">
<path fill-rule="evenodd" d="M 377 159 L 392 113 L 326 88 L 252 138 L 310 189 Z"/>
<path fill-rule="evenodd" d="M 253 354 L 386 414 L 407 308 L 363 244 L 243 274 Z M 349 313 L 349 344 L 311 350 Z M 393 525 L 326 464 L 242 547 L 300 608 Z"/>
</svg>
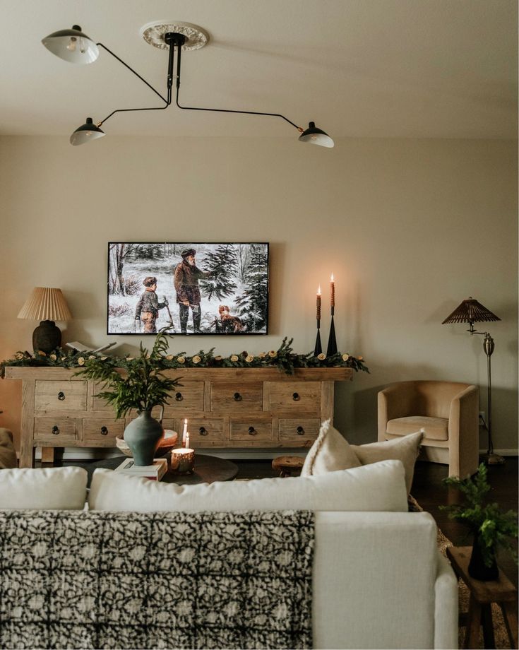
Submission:
<svg viewBox="0 0 519 650">
<path fill-rule="evenodd" d="M 90 510 L 134 512 L 283 509 L 406 512 L 407 493 L 400 461 L 383 461 L 321 476 L 216 481 L 201 485 L 157 483 L 97 469 L 88 504 Z"/>
</svg>

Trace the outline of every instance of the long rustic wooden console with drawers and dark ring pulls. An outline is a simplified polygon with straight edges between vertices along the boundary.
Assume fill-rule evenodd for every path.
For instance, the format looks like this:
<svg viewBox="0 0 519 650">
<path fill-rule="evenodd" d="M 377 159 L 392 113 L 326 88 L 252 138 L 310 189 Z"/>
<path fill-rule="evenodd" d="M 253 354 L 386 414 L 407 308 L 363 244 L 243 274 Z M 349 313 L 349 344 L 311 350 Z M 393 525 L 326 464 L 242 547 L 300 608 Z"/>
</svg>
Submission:
<svg viewBox="0 0 519 650">
<path fill-rule="evenodd" d="M 117 420 L 112 406 L 96 397 L 101 387 L 73 377 L 77 370 L 6 367 L 7 379 L 21 379 L 20 467 L 34 466 L 35 447 L 115 447 L 130 413 Z M 165 407 L 163 425 L 181 431 L 189 420 L 195 449 L 306 448 L 324 420 L 333 420 L 333 385 L 353 370 L 300 368 L 185 368 L 165 370 L 181 377 Z"/>
</svg>

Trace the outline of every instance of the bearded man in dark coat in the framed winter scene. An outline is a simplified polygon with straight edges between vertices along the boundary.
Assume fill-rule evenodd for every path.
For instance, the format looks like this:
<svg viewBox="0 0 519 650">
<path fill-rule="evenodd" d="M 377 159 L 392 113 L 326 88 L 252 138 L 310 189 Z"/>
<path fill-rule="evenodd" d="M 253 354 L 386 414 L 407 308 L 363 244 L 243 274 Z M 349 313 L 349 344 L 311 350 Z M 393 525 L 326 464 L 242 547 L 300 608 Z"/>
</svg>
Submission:
<svg viewBox="0 0 519 650">
<path fill-rule="evenodd" d="M 173 282 L 177 291 L 177 302 L 179 303 L 180 331 L 187 333 L 187 320 L 189 307 L 193 313 L 193 332 L 200 331 L 201 308 L 200 288 L 198 280 L 210 278 L 213 273 L 201 271 L 195 264 L 196 250 L 186 248 L 181 252 L 182 261 L 177 264 L 174 270 Z"/>
</svg>

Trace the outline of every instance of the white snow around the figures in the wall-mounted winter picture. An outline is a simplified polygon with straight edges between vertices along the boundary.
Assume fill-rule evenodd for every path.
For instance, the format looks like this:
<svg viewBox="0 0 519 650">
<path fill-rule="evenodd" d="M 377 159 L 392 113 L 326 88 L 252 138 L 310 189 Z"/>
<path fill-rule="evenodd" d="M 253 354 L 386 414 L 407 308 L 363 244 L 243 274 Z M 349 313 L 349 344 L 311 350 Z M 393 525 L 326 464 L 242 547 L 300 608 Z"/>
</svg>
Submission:
<svg viewBox="0 0 519 650">
<path fill-rule="evenodd" d="M 202 271 L 205 270 L 203 258 L 203 253 L 200 255 L 197 254 L 196 256 L 196 266 L 201 268 Z M 181 261 L 180 257 L 178 257 L 178 261 L 175 261 L 172 256 L 169 257 L 169 259 L 138 259 L 126 261 L 123 272 L 124 279 L 126 285 L 136 287 L 136 293 L 125 296 L 117 294 L 108 296 L 109 334 L 143 333 L 143 325 L 141 321 L 135 319 L 135 310 L 137 302 L 144 291 L 143 280 L 146 276 L 155 276 L 155 278 L 157 278 L 156 293 L 159 302 L 164 302 L 165 297 L 169 301 L 169 311 L 171 312 L 173 321 L 173 327 L 170 331 L 172 333 L 180 333 L 179 305 L 177 303 L 177 293 L 175 292 L 173 284 L 174 269 L 179 261 Z M 240 283 L 239 280 L 234 281 L 237 284 L 236 290 L 222 300 L 219 300 L 217 297 L 213 297 L 212 300 L 209 300 L 205 295 L 203 295 L 203 290 L 201 288 L 201 331 L 203 333 L 215 333 L 213 322 L 215 319 L 219 318 L 218 307 L 220 305 L 227 305 L 231 314 L 238 314 L 236 299 L 243 293 L 244 285 L 243 283 Z M 157 331 L 169 324 L 167 308 L 165 307 L 164 309 L 160 309 L 156 321 Z M 188 321 L 188 333 L 189 332 L 193 333 L 191 309 L 189 310 Z M 263 328 L 254 333 L 265 332 L 266 329 Z"/>
</svg>

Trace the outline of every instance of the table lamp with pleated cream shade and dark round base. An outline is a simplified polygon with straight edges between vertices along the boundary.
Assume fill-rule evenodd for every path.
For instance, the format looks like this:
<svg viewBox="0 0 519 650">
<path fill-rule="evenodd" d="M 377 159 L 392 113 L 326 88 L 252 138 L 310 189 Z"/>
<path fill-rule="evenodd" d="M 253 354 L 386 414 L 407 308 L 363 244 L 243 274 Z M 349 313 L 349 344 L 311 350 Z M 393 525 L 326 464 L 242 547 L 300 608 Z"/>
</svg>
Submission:
<svg viewBox="0 0 519 650">
<path fill-rule="evenodd" d="M 69 321 L 72 314 L 61 289 L 35 287 L 18 318 L 41 321 L 32 332 L 32 348 L 49 353 L 61 345 L 61 331 L 54 321 Z"/>
</svg>

